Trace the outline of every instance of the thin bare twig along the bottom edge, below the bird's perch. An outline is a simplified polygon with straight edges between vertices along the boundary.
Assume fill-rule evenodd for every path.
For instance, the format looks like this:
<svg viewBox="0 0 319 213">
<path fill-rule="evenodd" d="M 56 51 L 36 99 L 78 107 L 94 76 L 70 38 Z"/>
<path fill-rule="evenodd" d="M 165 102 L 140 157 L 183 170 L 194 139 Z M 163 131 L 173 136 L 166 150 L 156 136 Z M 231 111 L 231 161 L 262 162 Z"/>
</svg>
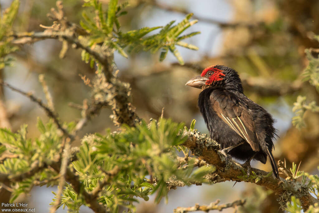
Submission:
<svg viewBox="0 0 319 213">
<path fill-rule="evenodd" d="M 211 202 L 208 206 L 200 206 L 198 203 L 195 204 L 195 206 L 192 207 L 178 207 L 177 209 L 174 209 L 174 213 L 186 213 L 186 212 L 193 212 L 193 211 L 204 211 L 209 212 L 210 210 L 223 210 L 227 208 L 236 208 L 237 206 L 242 206 L 245 204 L 246 200 L 237 200 L 232 203 L 226 203 L 218 205 L 220 200 L 217 200 L 215 202 Z"/>
</svg>

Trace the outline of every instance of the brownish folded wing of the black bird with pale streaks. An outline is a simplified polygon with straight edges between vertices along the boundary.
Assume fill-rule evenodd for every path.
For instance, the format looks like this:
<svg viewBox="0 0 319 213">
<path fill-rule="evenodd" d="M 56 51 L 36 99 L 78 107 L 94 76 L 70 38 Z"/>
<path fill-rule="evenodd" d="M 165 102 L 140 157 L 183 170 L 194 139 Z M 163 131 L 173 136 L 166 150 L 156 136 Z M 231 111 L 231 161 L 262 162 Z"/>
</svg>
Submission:
<svg viewBox="0 0 319 213">
<path fill-rule="evenodd" d="M 259 151 L 254 118 L 237 96 L 227 90 L 216 89 L 212 91 L 210 101 L 218 117 L 246 140 L 254 151 Z"/>
</svg>

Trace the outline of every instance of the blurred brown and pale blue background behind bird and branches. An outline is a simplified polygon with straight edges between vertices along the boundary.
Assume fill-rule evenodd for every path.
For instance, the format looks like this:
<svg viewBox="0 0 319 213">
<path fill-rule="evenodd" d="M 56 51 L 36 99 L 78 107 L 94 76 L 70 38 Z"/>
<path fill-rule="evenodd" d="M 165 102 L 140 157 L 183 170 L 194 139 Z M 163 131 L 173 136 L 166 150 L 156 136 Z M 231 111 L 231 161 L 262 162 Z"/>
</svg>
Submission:
<svg viewBox="0 0 319 213">
<path fill-rule="evenodd" d="M 64 10 L 68 20 L 79 23 L 83 10 L 80 0 L 64 0 Z M 108 4 L 108 0 L 100 0 Z M 124 1 L 120 1 L 124 2 Z M 185 82 L 201 73 L 210 65 L 226 65 L 236 69 L 243 81 L 245 94 L 268 110 L 277 120 L 278 139 L 275 142 L 274 157 L 286 159 L 288 167 L 295 162 L 300 169 L 318 173 L 319 164 L 319 115 L 306 112 L 306 128 L 301 131 L 291 124 L 292 107 L 298 95 L 307 95 L 309 100 L 319 102 L 315 87 L 302 82 L 300 74 L 308 63 L 306 48 L 317 48 L 313 35 L 319 34 L 319 1 L 317 0 L 129 0 L 128 14 L 120 18 L 123 31 L 141 27 L 166 25 L 171 20 L 181 21 L 186 14 L 194 13 L 198 23 L 186 32 L 200 31 L 185 42 L 199 47 L 198 51 L 178 48 L 185 61 L 181 66 L 168 53 L 164 62 L 159 62 L 159 53 L 138 53 L 128 59 L 119 54 L 115 62 L 119 68 L 119 78 L 132 87 L 133 104 L 137 114 L 149 120 L 159 118 L 162 108 L 164 117 L 175 122 L 190 125 L 196 119 L 197 128 L 208 133 L 204 120 L 197 108 L 199 90 L 185 86 Z M 11 4 L 11 0 L 0 0 L 1 10 Z M 55 0 L 21 1 L 18 18 L 14 25 L 17 32 L 43 31 L 40 24 L 50 26 L 46 14 L 55 7 Z M 94 70 L 81 60 L 81 50 L 69 49 L 65 58 L 59 58 L 61 42 L 45 40 L 33 45 L 25 45 L 14 53 L 16 62 L 12 67 L 0 70 L 0 77 L 24 91 L 44 99 L 38 75 L 44 74 L 53 95 L 56 111 L 63 121 L 81 117 L 80 110 L 69 103 L 82 104 L 90 98 L 90 87 L 85 86 L 81 75 L 93 78 Z M 36 118 L 48 120 L 44 112 L 26 97 L 1 88 L 0 107 L 5 107 L 6 115 L 1 115 L 1 127 L 13 131 L 26 123 L 29 137 L 36 137 Z M 109 119 L 110 110 L 104 109 L 100 115 L 81 130 L 85 133 L 104 133 L 106 128 L 116 130 Z M 77 145 L 81 137 L 74 145 Z M 270 164 L 252 163 L 266 171 Z M 159 205 L 141 201 L 137 212 L 172 212 L 178 206 L 194 206 L 195 203 L 209 204 L 216 199 L 221 203 L 249 197 L 241 212 L 282 212 L 276 195 L 262 187 L 248 183 L 234 182 L 216 185 L 190 186 L 172 190 L 168 202 L 163 199 Z M 35 187 L 31 196 L 21 197 L 36 212 L 47 212 L 56 188 Z M 17 201 L 18 202 L 18 201 Z M 226 209 L 224 212 L 233 212 Z M 57 212 L 66 212 L 60 208 Z M 81 212 L 92 212 L 83 207 Z"/>
</svg>

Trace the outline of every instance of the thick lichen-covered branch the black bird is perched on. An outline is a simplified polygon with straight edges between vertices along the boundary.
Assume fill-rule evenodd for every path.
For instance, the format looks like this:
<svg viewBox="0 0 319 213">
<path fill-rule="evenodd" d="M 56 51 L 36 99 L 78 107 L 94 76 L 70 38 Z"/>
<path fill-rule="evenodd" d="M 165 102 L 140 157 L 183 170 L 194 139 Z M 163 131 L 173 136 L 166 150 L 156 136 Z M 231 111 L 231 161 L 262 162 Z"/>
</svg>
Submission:
<svg viewBox="0 0 319 213">
<path fill-rule="evenodd" d="M 294 194 L 300 199 L 302 207 L 305 210 L 308 209 L 310 205 L 319 202 L 309 193 L 307 186 L 302 185 L 297 181 L 285 179 L 278 180 L 272 175 L 269 175 L 269 172 L 256 168 L 252 168 L 250 173 L 253 175 L 247 177 L 247 168 L 227 160 L 226 157 L 220 153 L 219 144 L 208 138 L 206 134 L 200 134 L 196 131 L 186 132 L 184 134 L 188 136 L 188 140 L 183 145 L 190 148 L 192 153 L 198 156 L 198 159 L 203 159 L 206 163 L 216 166 L 216 171 L 211 175 L 206 176 L 206 179 L 211 183 L 232 180 L 265 186 L 276 194 L 280 194 L 279 201 L 282 206 L 286 206 L 287 201 L 290 202 L 291 194 Z"/>
</svg>

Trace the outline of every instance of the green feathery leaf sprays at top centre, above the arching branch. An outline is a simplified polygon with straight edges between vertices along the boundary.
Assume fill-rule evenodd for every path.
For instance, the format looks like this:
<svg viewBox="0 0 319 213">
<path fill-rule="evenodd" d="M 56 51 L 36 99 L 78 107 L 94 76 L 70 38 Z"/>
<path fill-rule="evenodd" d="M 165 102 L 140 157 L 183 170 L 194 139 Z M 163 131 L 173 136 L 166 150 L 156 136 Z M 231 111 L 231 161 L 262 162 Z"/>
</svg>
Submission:
<svg viewBox="0 0 319 213">
<path fill-rule="evenodd" d="M 118 17 L 126 14 L 126 11 L 122 11 L 122 9 L 127 5 L 127 3 L 124 3 L 117 6 L 117 0 L 111 0 L 108 5 L 108 11 L 104 12 L 102 4 L 97 0 L 86 0 L 85 6 L 93 7 L 97 14 L 93 20 L 93 18 L 90 18 L 85 12 L 82 13 L 85 21 L 81 21 L 80 24 L 90 33 L 90 46 L 103 43 L 103 47 L 116 50 L 123 57 L 128 57 L 124 49 L 126 49 L 128 53 L 139 52 L 141 50 L 155 53 L 161 49 L 160 61 L 165 59 L 169 50 L 174 54 L 180 64 L 184 64 L 184 61 L 176 45 L 188 49 L 198 49 L 196 46 L 183 42 L 182 40 L 199 34 L 199 32 L 181 35 L 187 28 L 197 23 L 197 20 L 189 20 L 193 14 L 188 14 L 185 19 L 177 25 L 173 25 L 175 21 L 171 21 L 164 27 L 143 27 L 124 33 L 121 30 Z M 161 30 L 156 34 L 146 36 L 157 29 Z M 85 62 L 88 63 L 88 57 L 85 57 Z"/>
</svg>

